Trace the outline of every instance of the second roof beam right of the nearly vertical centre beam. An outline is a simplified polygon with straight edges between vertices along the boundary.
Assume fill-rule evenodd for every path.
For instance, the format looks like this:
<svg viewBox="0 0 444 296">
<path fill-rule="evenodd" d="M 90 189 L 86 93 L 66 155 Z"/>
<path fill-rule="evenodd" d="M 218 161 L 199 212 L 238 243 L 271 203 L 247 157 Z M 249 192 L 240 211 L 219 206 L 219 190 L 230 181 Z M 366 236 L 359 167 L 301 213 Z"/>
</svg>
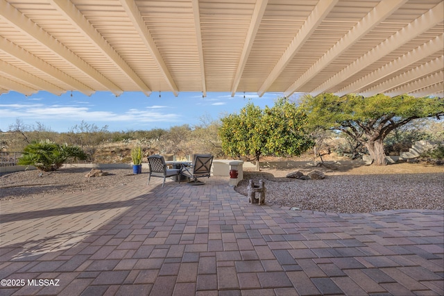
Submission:
<svg viewBox="0 0 444 296">
<path fill-rule="evenodd" d="M 338 3 L 338 0 L 321 0 L 318 5 L 311 11 L 307 20 L 300 28 L 299 32 L 296 34 L 295 38 L 291 40 L 289 47 L 284 51 L 284 54 L 278 60 L 271 73 L 262 83 L 257 94 L 262 97 L 266 90 L 273 84 L 273 82 L 278 79 L 278 76 L 290 63 L 291 59 L 296 56 L 300 48 L 307 42 L 311 34 L 316 30 L 319 24 L 325 19 L 325 17 L 330 13 L 334 6 Z"/>
</svg>

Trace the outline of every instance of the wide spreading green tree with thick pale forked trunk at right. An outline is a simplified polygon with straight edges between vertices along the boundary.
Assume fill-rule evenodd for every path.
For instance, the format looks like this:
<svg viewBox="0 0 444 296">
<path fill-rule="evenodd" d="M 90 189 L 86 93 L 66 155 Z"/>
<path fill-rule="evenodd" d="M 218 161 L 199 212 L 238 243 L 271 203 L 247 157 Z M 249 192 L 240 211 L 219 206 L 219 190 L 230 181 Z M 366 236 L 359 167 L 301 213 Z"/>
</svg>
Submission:
<svg viewBox="0 0 444 296">
<path fill-rule="evenodd" d="M 387 164 L 383 141 L 388 133 L 418 118 L 444 115 L 443 99 L 405 94 L 367 98 L 357 94 L 307 95 L 302 98 L 302 106 L 307 110 L 311 129 L 322 127 L 350 135 L 366 147 L 374 165 Z"/>
</svg>

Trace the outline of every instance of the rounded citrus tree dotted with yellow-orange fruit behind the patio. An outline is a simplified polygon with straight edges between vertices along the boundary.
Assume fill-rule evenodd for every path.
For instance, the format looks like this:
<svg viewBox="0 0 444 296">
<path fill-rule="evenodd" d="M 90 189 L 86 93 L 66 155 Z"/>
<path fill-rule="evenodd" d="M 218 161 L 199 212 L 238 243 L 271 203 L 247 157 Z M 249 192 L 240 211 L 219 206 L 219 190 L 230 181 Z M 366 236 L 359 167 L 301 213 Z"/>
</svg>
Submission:
<svg viewBox="0 0 444 296">
<path fill-rule="evenodd" d="M 306 121 L 301 108 L 280 98 L 273 108 L 248 103 L 239 114 L 223 117 L 218 134 L 225 154 L 253 156 L 259 170 L 260 156 L 300 156 L 313 145 L 303 129 Z"/>
</svg>

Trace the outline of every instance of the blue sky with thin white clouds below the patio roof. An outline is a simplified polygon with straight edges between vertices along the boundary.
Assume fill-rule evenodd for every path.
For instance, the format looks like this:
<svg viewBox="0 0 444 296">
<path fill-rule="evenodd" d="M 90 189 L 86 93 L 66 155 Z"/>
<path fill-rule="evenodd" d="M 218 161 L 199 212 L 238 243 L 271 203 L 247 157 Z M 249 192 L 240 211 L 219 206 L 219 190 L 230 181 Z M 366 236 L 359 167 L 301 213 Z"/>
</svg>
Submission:
<svg viewBox="0 0 444 296">
<path fill-rule="evenodd" d="M 248 101 L 264 108 L 273 106 L 281 93 L 153 92 L 149 97 L 141 92 L 123 92 L 116 97 L 111 92 L 96 92 L 87 97 L 80 92 L 57 96 L 49 92 L 37 92 L 26 97 L 17 92 L 0 95 L 0 130 L 8 131 L 11 124 L 20 120 L 37 126 L 37 122 L 52 131 L 65 132 L 82 121 L 108 126 L 108 131 L 169 129 L 182 124 L 201 124 L 201 117 L 217 120 L 223 115 L 239 112 Z"/>
</svg>

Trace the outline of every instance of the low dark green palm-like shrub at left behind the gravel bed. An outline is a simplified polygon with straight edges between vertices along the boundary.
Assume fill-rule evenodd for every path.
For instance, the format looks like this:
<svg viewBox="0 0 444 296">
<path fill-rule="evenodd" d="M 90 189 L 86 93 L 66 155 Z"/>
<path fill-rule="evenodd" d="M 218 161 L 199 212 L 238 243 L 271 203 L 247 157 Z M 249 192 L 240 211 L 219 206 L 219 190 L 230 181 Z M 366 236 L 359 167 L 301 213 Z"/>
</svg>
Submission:
<svg viewBox="0 0 444 296">
<path fill-rule="evenodd" d="M 85 160 L 87 155 L 78 146 L 59 145 L 50 140 L 32 142 L 24 147 L 19 165 L 33 165 L 44 172 L 58 170 L 69 159 Z"/>
</svg>

